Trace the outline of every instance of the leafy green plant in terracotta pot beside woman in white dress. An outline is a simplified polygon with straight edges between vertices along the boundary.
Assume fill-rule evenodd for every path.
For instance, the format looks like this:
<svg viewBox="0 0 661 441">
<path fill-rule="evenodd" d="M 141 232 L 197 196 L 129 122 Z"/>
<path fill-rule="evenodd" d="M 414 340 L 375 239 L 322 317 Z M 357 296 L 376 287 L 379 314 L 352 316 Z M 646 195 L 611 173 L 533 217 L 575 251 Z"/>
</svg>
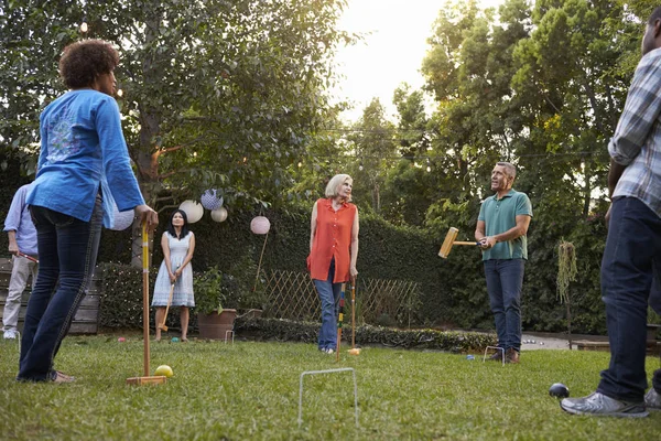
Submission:
<svg viewBox="0 0 661 441">
<path fill-rule="evenodd" d="M 196 275 L 193 289 L 202 338 L 225 340 L 227 332 L 234 331 L 237 291 L 231 284 L 231 277 L 224 276 L 216 267 Z"/>
</svg>

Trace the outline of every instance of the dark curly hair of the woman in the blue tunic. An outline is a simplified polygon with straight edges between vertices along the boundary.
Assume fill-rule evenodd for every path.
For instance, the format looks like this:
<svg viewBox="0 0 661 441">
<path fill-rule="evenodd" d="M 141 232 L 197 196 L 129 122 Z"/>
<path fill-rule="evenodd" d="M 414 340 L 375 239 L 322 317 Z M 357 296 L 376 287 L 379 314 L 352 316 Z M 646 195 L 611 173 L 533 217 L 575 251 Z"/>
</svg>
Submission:
<svg viewBox="0 0 661 441">
<path fill-rule="evenodd" d="M 102 40 L 84 40 L 69 44 L 59 58 L 59 76 L 72 89 L 90 87 L 102 74 L 109 74 L 119 64 L 119 53 Z"/>
</svg>

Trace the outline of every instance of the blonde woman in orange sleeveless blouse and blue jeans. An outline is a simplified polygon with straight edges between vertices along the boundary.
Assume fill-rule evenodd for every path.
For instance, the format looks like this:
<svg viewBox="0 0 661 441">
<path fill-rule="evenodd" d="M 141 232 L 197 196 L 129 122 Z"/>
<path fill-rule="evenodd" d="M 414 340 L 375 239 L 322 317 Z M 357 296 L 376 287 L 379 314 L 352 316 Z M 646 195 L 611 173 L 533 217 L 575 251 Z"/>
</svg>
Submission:
<svg viewBox="0 0 661 441">
<path fill-rule="evenodd" d="M 326 197 L 312 208 L 307 268 L 322 302 L 318 348 L 333 354 L 337 345 L 337 310 L 342 283 L 358 275 L 358 208 L 350 204 L 354 180 L 336 174 Z"/>
</svg>

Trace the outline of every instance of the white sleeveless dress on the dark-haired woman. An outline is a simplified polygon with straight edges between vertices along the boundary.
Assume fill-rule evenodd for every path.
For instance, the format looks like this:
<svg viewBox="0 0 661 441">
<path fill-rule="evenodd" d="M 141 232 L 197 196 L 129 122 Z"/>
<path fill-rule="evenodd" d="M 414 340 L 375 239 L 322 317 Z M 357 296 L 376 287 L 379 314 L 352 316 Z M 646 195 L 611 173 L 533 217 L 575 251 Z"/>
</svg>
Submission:
<svg viewBox="0 0 661 441">
<path fill-rule="evenodd" d="M 163 233 L 167 237 L 167 244 L 170 246 L 170 265 L 174 272 L 178 266 L 182 265 L 186 255 L 188 254 L 188 246 L 191 244 L 191 237 L 193 233 L 188 232 L 186 237 L 181 240 L 171 236 L 170 233 Z M 152 299 L 152 306 L 166 306 L 167 299 L 170 298 L 170 277 L 167 276 L 167 267 L 165 267 L 165 260 L 161 262 L 159 268 L 159 276 L 154 283 L 154 297 Z M 172 295 L 171 306 L 195 306 L 195 298 L 193 297 L 193 267 L 191 262 L 184 267 L 182 275 L 174 283 L 174 294 Z"/>
</svg>

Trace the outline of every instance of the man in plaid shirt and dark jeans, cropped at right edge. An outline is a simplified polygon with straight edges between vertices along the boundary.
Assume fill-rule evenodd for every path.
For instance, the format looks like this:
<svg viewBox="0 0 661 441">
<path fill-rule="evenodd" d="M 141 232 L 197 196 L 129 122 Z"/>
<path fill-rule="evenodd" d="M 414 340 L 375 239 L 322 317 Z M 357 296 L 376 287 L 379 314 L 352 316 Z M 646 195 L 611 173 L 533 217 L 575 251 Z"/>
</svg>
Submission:
<svg viewBox="0 0 661 441">
<path fill-rule="evenodd" d="M 661 276 L 661 7 L 648 20 L 642 55 L 608 144 L 613 203 L 602 295 L 610 365 L 594 394 L 562 400 L 570 413 L 636 418 L 661 409 L 661 369 L 644 394 L 648 301 L 659 294 Z"/>
</svg>

